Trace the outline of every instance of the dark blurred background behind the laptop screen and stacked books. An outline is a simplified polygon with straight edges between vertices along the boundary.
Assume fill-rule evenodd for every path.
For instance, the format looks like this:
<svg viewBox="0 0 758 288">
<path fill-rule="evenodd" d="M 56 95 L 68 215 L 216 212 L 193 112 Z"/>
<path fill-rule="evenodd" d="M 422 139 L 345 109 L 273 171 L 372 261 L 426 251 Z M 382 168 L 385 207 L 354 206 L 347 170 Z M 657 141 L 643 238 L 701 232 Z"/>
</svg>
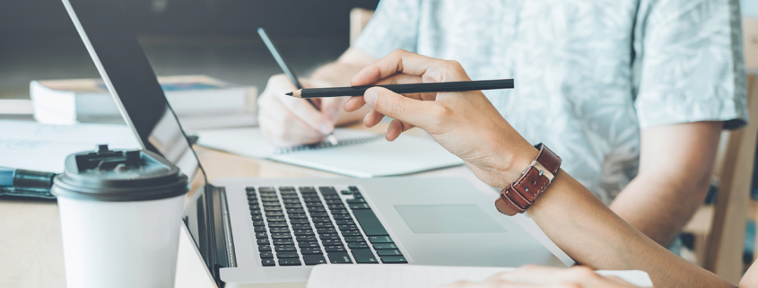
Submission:
<svg viewBox="0 0 758 288">
<path fill-rule="evenodd" d="M 158 75 L 205 74 L 256 85 L 281 70 L 264 27 L 295 73 L 349 45 L 349 13 L 379 0 L 119 0 Z M 0 99 L 29 99 L 32 80 L 99 74 L 59 0 L 0 1 Z"/>
</svg>

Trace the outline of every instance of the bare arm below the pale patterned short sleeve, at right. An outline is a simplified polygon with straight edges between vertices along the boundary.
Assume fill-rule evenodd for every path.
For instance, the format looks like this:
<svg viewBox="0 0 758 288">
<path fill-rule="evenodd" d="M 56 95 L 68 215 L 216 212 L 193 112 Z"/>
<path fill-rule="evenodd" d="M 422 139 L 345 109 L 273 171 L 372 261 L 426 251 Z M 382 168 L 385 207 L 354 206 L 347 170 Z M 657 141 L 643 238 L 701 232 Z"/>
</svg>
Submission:
<svg viewBox="0 0 758 288">
<path fill-rule="evenodd" d="M 722 122 L 642 130 L 640 170 L 610 205 L 634 228 L 666 247 L 702 205 Z"/>
</svg>

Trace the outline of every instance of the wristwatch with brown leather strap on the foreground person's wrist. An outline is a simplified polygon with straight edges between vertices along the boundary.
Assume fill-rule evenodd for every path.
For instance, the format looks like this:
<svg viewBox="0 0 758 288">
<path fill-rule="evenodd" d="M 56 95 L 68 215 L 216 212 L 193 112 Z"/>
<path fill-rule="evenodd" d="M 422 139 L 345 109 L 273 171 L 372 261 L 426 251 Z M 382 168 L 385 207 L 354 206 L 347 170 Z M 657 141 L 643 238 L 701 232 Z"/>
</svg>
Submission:
<svg viewBox="0 0 758 288">
<path fill-rule="evenodd" d="M 495 207 L 501 214 L 513 216 L 526 212 L 550 186 L 555 173 L 561 168 L 561 157 L 545 144 L 536 144 L 535 148 L 539 150 L 536 160 L 521 172 L 521 177 L 516 182 L 502 189 L 500 197 L 495 200 Z"/>
</svg>

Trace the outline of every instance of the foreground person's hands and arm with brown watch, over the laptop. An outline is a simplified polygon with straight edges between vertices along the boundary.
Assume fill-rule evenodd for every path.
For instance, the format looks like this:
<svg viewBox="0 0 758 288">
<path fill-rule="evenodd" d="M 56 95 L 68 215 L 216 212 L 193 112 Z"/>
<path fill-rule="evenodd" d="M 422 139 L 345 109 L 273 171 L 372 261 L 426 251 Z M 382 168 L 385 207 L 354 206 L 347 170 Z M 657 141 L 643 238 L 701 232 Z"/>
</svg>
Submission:
<svg viewBox="0 0 758 288">
<path fill-rule="evenodd" d="M 440 83 L 469 81 L 466 71 L 456 61 L 423 57 L 396 50 L 356 74 L 351 85 L 387 83 Z M 518 82 L 517 82 L 518 83 Z M 517 89 L 519 86 L 517 84 Z M 588 188 L 566 170 L 558 170 L 567 160 L 550 161 L 553 156 L 545 148 L 537 150 L 503 118 L 483 92 L 436 92 L 399 95 L 384 88 L 370 88 L 363 96 L 344 102 L 346 111 L 369 107 L 363 123 L 376 126 L 385 116 L 394 118 L 386 134 L 389 141 L 402 132 L 419 127 L 466 162 L 477 178 L 496 188 L 509 188 L 512 183 L 531 179 L 546 188 L 537 193 L 528 214 L 545 234 L 580 265 L 586 267 L 557 269 L 527 267 L 516 272 L 494 275 L 480 284 L 456 283 L 449 287 L 631 287 L 615 278 L 600 277 L 591 269 L 647 272 L 656 287 L 733 287 L 701 267 L 649 239 L 632 225 L 614 214 Z M 536 116 L 535 120 L 542 120 Z M 539 146 L 539 145 L 538 145 Z M 547 156 L 545 156 L 547 155 Z M 558 156 L 562 155 L 557 153 Z M 544 157 L 545 156 L 545 157 Z M 552 171 L 536 174 L 522 171 L 533 161 L 540 161 Z M 557 167 L 556 167 L 557 162 Z M 553 168 L 550 168 L 553 169 Z M 547 182 L 553 172 L 552 182 Z M 515 184 L 514 184 L 515 185 Z M 528 188 L 529 186 L 527 186 Z M 518 188 L 521 189 L 521 188 Z M 535 191 L 510 190 L 496 202 L 497 209 L 509 213 L 517 197 L 528 197 Z M 512 194 L 517 193 L 517 194 Z M 679 199 L 675 199 L 679 201 Z M 519 205 L 522 206 L 522 205 Z M 523 206 L 522 206 L 523 207 Z M 758 265 L 745 275 L 742 287 L 758 285 Z"/>
</svg>

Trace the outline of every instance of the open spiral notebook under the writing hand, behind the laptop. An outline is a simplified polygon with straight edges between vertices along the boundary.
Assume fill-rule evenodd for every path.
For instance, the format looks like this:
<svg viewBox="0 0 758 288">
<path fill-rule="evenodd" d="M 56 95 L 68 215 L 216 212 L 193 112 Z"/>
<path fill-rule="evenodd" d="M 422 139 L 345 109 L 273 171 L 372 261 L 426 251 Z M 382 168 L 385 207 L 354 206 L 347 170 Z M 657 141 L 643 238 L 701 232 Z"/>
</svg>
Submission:
<svg viewBox="0 0 758 288">
<path fill-rule="evenodd" d="M 388 142 L 383 135 L 355 129 L 335 129 L 339 144 L 320 143 L 291 148 L 269 144 L 259 128 L 200 131 L 197 144 L 242 156 L 281 161 L 357 178 L 403 175 L 463 164 L 432 140 L 400 135 Z"/>
</svg>

